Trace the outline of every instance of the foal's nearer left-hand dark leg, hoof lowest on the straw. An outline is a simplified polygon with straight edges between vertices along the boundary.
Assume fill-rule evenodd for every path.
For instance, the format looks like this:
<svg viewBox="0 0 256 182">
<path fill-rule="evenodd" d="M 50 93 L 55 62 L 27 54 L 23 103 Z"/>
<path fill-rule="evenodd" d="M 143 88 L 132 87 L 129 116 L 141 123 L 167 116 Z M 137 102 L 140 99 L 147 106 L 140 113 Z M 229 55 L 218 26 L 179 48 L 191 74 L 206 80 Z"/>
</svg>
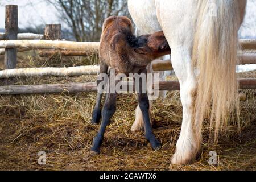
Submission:
<svg viewBox="0 0 256 182">
<path fill-rule="evenodd" d="M 110 119 L 113 117 L 113 114 L 115 113 L 116 110 L 116 99 L 117 99 L 117 94 L 116 93 L 109 93 L 103 110 L 102 110 L 102 122 L 101 122 L 101 127 L 100 131 L 98 131 L 98 134 L 93 140 L 93 146 L 92 146 L 92 152 L 95 154 L 100 154 L 100 146 L 103 142 L 104 139 L 104 133 L 106 130 L 106 126 L 109 125 Z"/>
</svg>

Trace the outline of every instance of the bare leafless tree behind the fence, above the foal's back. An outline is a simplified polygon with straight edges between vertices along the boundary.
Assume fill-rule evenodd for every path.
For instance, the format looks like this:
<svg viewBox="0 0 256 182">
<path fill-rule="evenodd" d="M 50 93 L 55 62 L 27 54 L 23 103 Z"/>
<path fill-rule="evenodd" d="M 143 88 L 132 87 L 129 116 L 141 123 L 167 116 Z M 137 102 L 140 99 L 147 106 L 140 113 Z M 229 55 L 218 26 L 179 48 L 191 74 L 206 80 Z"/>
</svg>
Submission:
<svg viewBox="0 0 256 182">
<path fill-rule="evenodd" d="M 127 0 L 48 0 L 77 41 L 100 40 L 102 23 L 112 15 L 129 16 Z"/>
</svg>

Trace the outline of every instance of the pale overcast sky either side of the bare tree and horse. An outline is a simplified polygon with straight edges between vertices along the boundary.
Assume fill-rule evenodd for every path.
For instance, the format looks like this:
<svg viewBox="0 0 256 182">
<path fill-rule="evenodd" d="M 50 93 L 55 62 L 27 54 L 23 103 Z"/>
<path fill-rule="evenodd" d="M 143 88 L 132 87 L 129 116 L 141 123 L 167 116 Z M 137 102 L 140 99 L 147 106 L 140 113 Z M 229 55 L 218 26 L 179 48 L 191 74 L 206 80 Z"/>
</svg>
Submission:
<svg viewBox="0 0 256 182">
<path fill-rule="evenodd" d="M 139 1 L 139 0 L 138 0 Z M 5 5 L 19 6 L 19 27 L 37 26 L 40 24 L 61 23 L 55 8 L 45 0 L 0 0 L 0 28 L 5 27 Z M 62 24 L 65 27 L 64 24 Z M 243 37 L 256 38 L 256 0 L 248 0 L 244 26 L 241 28 Z"/>
</svg>

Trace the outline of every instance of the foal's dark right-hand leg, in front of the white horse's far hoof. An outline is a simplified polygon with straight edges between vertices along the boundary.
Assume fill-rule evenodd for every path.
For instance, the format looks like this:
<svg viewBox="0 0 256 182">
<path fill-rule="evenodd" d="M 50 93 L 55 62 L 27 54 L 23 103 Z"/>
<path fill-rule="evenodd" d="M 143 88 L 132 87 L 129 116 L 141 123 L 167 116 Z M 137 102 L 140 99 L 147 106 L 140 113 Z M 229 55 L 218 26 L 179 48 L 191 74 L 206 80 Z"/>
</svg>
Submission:
<svg viewBox="0 0 256 182">
<path fill-rule="evenodd" d="M 143 73 L 147 73 L 147 72 L 144 71 Z M 138 94 L 138 101 L 139 101 L 139 107 L 140 107 L 140 109 L 142 111 L 142 115 L 143 115 L 145 137 L 150 142 L 153 150 L 158 150 L 161 147 L 161 144 L 155 138 L 155 135 L 153 134 L 153 131 L 152 131 L 152 126 L 151 126 L 151 122 L 150 122 L 150 114 L 148 113 L 149 107 L 150 107 L 149 100 L 148 100 L 147 93 L 142 93 L 142 86 L 146 86 L 146 84 L 142 83 L 142 80 L 140 80 L 139 81 L 140 90 L 139 90 L 139 94 Z"/>
</svg>

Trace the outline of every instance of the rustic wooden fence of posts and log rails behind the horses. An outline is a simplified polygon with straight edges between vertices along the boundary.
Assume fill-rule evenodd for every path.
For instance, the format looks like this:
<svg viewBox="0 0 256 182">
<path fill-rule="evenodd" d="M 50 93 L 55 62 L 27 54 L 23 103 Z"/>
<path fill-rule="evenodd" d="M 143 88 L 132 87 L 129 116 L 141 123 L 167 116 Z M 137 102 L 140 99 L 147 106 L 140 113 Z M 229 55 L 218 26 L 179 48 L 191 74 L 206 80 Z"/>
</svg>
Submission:
<svg viewBox="0 0 256 182">
<path fill-rule="evenodd" d="M 25 40 L 24 40 L 25 39 Z M 243 52 L 240 64 L 256 64 L 256 40 L 240 40 Z M 6 6 L 5 33 L 0 34 L 0 55 L 5 54 L 5 70 L 0 71 L 0 78 L 28 76 L 80 76 L 97 75 L 97 65 L 72 68 L 23 68 L 16 69 L 17 51 L 31 49 L 47 50 L 42 56 L 49 56 L 59 51 L 65 56 L 85 56 L 98 52 L 98 42 L 70 42 L 61 40 L 61 26 L 46 25 L 44 35 L 18 34 L 18 6 Z M 250 51 L 249 51 L 250 50 Z M 171 61 L 153 61 L 154 71 L 172 70 Z M 240 89 L 256 89 L 256 79 L 238 80 Z M 129 83 L 133 84 L 133 83 Z M 163 81 L 160 90 L 179 90 L 179 82 Z M 96 91 L 96 83 L 47 84 L 24 86 L 0 86 L 0 94 L 39 94 L 39 93 L 76 93 Z"/>
</svg>

